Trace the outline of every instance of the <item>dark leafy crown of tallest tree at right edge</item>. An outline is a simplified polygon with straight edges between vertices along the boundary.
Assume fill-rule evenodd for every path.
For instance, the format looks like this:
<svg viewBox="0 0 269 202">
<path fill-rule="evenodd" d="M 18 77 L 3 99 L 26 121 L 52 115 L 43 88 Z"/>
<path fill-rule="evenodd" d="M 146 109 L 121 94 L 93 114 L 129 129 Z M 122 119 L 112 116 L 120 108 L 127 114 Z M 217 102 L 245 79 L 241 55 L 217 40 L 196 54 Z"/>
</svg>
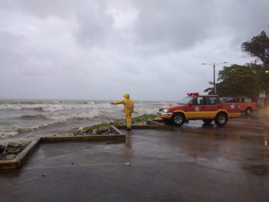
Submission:
<svg viewBox="0 0 269 202">
<path fill-rule="evenodd" d="M 243 42 L 241 49 L 251 57 L 256 57 L 254 63 L 261 61 L 264 66 L 269 66 L 269 37 L 264 31 L 250 41 Z"/>
</svg>

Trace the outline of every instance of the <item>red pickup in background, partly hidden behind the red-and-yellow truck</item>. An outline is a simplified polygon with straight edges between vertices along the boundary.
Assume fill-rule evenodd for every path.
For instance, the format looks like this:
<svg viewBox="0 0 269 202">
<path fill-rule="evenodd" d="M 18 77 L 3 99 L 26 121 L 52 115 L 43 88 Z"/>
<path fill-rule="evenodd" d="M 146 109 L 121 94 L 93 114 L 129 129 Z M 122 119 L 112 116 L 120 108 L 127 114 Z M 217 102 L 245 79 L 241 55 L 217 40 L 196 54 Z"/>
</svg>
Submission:
<svg viewBox="0 0 269 202">
<path fill-rule="evenodd" d="M 221 97 L 220 100 L 221 103 L 238 103 L 240 105 L 240 112 L 244 112 L 247 116 L 250 116 L 253 111 L 257 110 L 257 103 L 238 102 L 233 97 Z"/>
</svg>

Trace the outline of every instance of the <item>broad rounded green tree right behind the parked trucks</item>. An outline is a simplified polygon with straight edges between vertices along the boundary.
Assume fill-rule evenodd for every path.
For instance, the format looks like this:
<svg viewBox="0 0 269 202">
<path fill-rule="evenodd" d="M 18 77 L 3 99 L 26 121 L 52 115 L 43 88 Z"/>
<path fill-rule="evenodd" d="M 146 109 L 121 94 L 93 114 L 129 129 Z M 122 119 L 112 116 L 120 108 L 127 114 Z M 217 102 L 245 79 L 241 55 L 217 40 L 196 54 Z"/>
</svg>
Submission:
<svg viewBox="0 0 269 202">
<path fill-rule="evenodd" d="M 232 65 L 224 67 L 219 71 L 218 81 L 216 85 L 217 93 L 220 96 L 248 96 L 255 98 L 260 92 L 257 74 L 249 66 Z"/>
</svg>

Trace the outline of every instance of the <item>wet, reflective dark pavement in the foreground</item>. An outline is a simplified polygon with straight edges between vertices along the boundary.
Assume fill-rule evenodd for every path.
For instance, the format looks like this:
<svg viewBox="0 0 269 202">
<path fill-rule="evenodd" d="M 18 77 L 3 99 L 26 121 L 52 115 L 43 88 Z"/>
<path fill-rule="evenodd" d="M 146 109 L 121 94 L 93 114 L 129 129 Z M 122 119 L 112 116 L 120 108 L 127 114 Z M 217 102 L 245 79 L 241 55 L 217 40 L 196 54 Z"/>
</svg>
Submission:
<svg viewBox="0 0 269 202">
<path fill-rule="evenodd" d="M 0 171 L 0 201 L 269 201 L 267 112 L 41 143 L 21 169 Z"/>
</svg>

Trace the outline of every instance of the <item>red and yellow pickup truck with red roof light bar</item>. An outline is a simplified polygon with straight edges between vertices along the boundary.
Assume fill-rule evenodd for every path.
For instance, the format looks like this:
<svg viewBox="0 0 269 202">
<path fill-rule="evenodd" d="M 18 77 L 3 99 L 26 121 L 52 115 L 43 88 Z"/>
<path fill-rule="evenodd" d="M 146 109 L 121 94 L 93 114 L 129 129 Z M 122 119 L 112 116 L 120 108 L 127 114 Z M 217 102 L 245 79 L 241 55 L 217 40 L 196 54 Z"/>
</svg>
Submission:
<svg viewBox="0 0 269 202">
<path fill-rule="evenodd" d="M 240 105 L 221 103 L 218 95 L 200 95 L 187 93 L 180 102 L 160 108 L 157 116 L 181 126 L 189 120 L 214 121 L 219 126 L 227 124 L 229 119 L 240 117 Z"/>
</svg>

